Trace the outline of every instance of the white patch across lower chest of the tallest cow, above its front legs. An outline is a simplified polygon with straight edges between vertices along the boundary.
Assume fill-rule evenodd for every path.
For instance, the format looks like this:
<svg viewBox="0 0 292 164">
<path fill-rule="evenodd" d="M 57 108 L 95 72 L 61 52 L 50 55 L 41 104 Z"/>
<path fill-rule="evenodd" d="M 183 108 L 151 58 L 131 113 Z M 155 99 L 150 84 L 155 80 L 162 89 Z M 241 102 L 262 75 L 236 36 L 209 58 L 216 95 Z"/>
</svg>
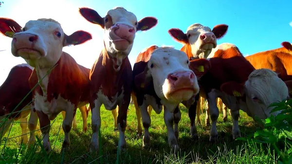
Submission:
<svg viewBox="0 0 292 164">
<path fill-rule="evenodd" d="M 112 101 L 110 101 L 110 99 L 108 98 L 108 96 L 103 94 L 102 91 L 102 87 L 100 87 L 99 91 L 97 92 L 97 98 L 98 101 L 103 104 L 105 106 L 105 109 L 107 110 L 113 110 L 116 108 L 116 105 L 118 104 L 118 102 L 123 102 L 123 98 L 124 98 L 124 86 L 122 86 L 121 90 L 121 94 L 118 96 L 118 92 L 111 97 Z"/>
</svg>

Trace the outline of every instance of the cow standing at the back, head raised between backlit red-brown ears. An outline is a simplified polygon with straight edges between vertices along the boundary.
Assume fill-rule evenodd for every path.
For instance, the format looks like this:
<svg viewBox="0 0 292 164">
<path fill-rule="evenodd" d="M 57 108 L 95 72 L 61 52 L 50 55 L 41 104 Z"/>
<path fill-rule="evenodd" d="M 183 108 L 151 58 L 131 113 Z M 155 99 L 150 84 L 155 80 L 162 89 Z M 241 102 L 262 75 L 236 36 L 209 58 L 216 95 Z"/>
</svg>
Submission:
<svg viewBox="0 0 292 164">
<path fill-rule="evenodd" d="M 207 58 L 207 56 L 211 53 L 213 48 L 217 46 L 217 39 L 222 38 L 228 30 L 228 25 L 219 24 L 213 27 L 211 30 L 208 26 L 203 26 L 200 23 L 194 23 L 190 25 L 186 33 L 183 33 L 181 29 L 171 28 L 168 30 L 170 36 L 174 38 L 177 42 L 183 44 L 181 51 L 185 52 L 190 60 L 198 59 L 198 58 Z M 201 97 L 205 97 L 203 93 L 200 92 Z M 193 116 L 191 112 L 197 111 L 197 124 L 201 124 L 200 120 L 200 109 L 203 98 L 197 98 L 197 107 L 194 106 L 186 106 L 188 108 L 188 113 L 190 116 Z M 187 102 L 183 102 L 184 105 L 188 104 Z M 208 110 L 206 110 L 208 111 Z M 208 120 L 208 113 L 206 112 L 206 120 Z M 227 117 L 226 117 L 227 118 Z M 226 119 L 227 120 L 227 119 Z M 191 122 L 191 136 L 196 139 L 198 136 L 196 134 L 197 130 L 195 128 L 195 118 L 190 117 Z M 208 122 L 206 121 L 206 125 Z"/>
</svg>

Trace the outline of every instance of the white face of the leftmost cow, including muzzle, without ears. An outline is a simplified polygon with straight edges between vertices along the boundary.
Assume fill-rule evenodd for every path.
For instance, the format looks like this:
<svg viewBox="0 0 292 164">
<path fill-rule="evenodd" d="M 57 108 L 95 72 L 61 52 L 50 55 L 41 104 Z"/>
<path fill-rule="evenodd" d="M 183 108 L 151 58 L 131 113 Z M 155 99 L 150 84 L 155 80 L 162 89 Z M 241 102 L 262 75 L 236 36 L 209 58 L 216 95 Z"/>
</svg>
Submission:
<svg viewBox="0 0 292 164">
<path fill-rule="evenodd" d="M 11 52 L 24 58 L 32 67 L 36 67 L 36 62 L 44 67 L 52 66 L 62 54 L 63 40 L 64 32 L 55 20 L 30 20 L 22 32 L 14 35 Z"/>
</svg>

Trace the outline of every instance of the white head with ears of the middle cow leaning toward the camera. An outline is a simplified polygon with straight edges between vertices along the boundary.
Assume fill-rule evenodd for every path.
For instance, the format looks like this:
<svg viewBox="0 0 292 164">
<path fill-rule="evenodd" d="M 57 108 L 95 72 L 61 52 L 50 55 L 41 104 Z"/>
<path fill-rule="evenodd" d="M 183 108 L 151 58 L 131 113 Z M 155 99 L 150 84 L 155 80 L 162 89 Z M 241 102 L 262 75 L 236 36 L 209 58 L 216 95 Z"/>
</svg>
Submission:
<svg viewBox="0 0 292 164">
<path fill-rule="evenodd" d="M 147 88 L 153 83 L 155 93 L 166 109 L 174 110 L 178 103 L 198 94 L 199 85 L 195 73 L 189 69 L 190 61 L 186 54 L 172 47 L 151 46 L 154 49 L 144 72 L 135 76 L 138 88 Z M 210 68 L 203 59 L 201 67 Z M 195 63 L 193 63 L 195 64 Z M 204 70 L 201 68 L 201 70 Z M 198 73 L 199 74 L 199 73 Z"/>
</svg>

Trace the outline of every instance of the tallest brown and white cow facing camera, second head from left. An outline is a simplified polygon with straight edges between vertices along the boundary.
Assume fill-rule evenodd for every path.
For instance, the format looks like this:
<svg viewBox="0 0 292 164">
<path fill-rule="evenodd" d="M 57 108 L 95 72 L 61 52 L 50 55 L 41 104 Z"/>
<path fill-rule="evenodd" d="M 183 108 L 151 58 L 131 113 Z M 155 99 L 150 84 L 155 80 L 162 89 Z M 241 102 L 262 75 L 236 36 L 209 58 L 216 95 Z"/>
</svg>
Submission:
<svg viewBox="0 0 292 164">
<path fill-rule="evenodd" d="M 127 111 L 131 98 L 132 68 L 128 55 L 132 49 L 137 31 L 146 31 L 157 24 L 157 19 L 145 17 L 137 21 L 136 16 L 123 7 L 109 10 L 102 18 L 95 10 L 80 8 L 80 14 L 88 21 L 104 29 L 104 49 L 91 68 L 91 127 L 90 150 L 99 150 L 100 107 L 107 110 L 118 106 L 117 127 L 119 149 L 125 149 Z M 114 117 L 116 111 L 112 112 Z"/>
</svg>

